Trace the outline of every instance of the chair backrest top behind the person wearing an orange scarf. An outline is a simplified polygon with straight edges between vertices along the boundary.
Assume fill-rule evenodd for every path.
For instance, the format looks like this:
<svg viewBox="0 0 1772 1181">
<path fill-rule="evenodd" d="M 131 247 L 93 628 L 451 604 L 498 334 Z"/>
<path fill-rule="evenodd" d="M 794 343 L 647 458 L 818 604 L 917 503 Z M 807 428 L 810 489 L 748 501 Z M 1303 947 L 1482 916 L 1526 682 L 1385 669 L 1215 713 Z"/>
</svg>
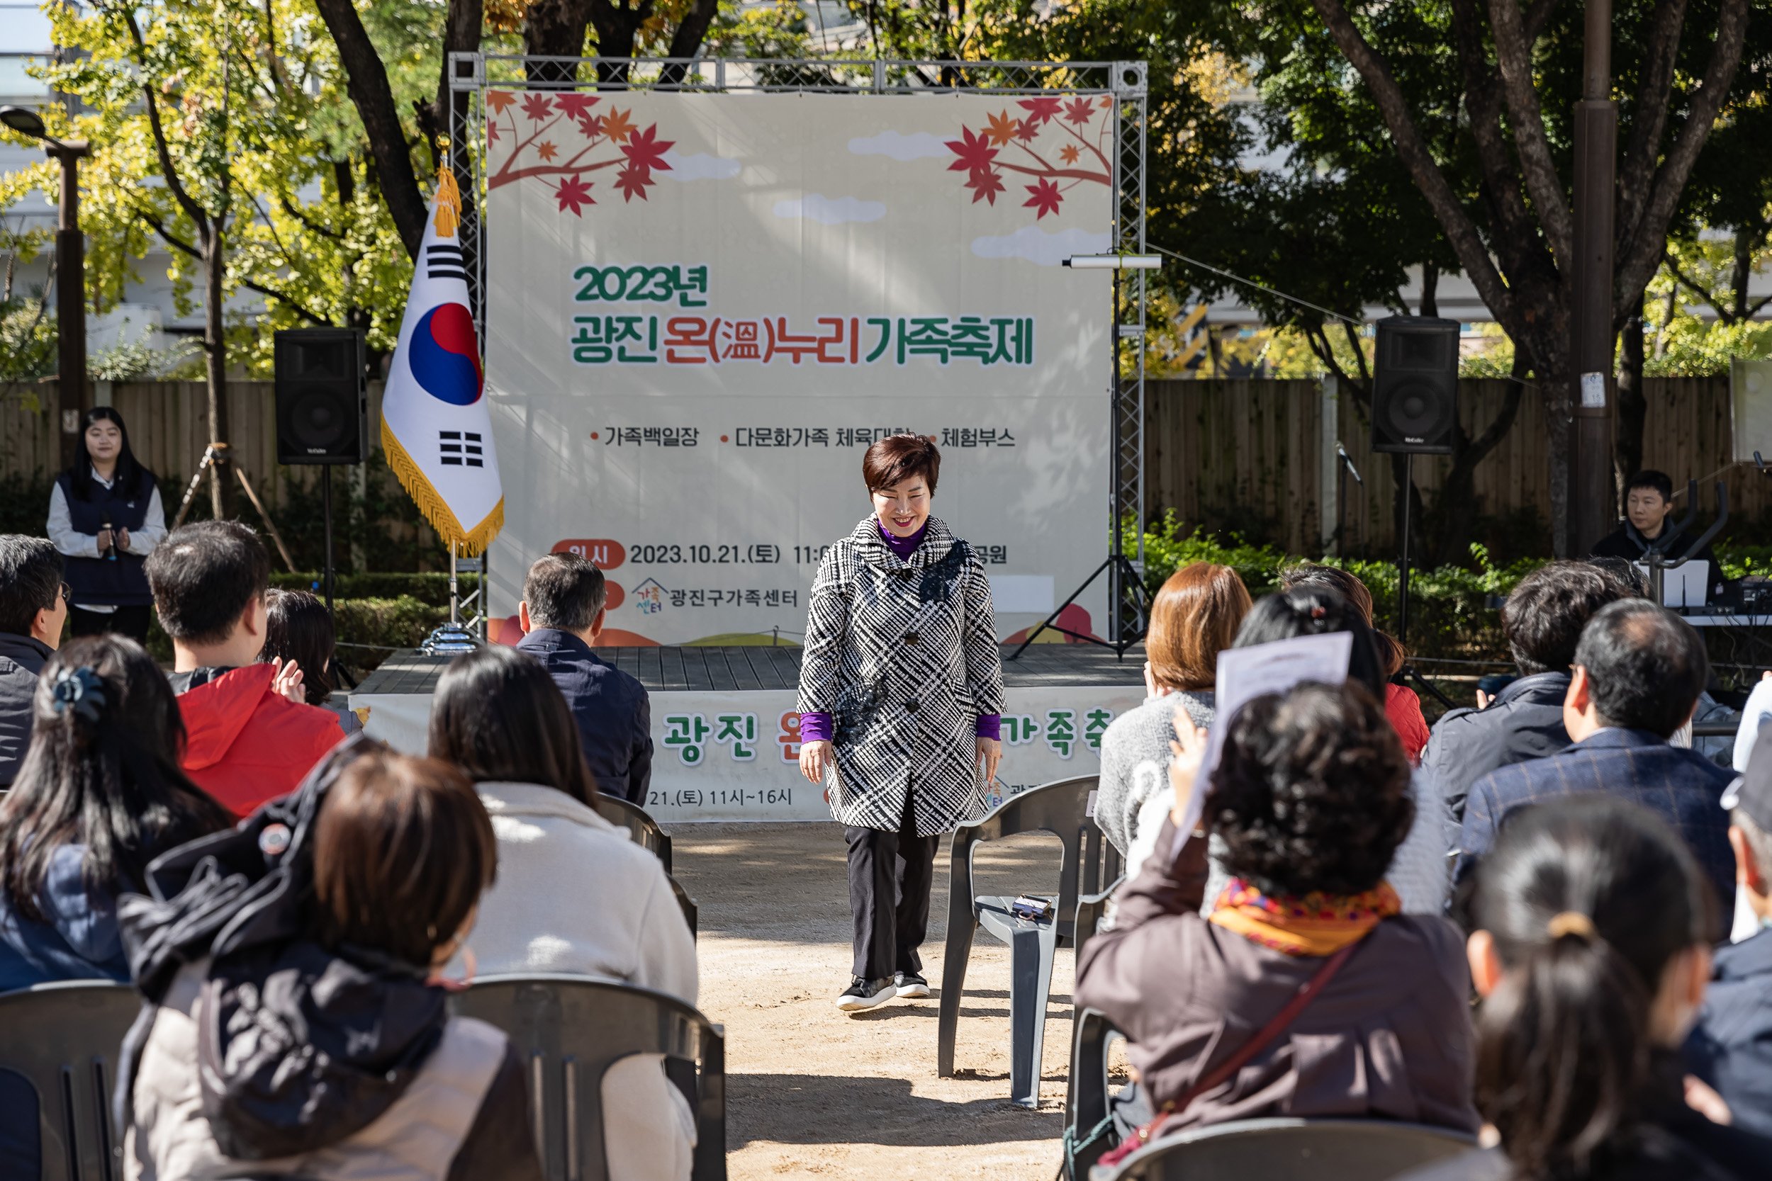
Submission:
<svg viewBox="0 0 1772 1181">
<path fill-rule="evenodd" d="M 1389 1181 L 1473 1147 L 1462 1131 L 1387 1119 L 1239 1119 L 1162 1137 L 1115 1181 Z"/>
</svg>

